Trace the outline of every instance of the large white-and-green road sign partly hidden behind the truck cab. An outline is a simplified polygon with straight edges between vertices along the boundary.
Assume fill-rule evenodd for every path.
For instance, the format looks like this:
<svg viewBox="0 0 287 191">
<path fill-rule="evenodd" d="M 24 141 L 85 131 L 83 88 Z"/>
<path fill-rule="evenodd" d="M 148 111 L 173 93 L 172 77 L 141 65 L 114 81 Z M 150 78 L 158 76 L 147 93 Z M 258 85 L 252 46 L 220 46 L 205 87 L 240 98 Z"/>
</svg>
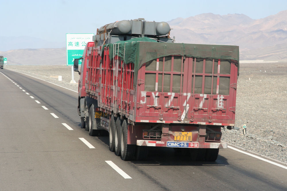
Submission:
<svg viewBox="0 0 287 191">
<path fill-rule="evenodd" d="M 67 66 L 74 65 L 75 58 L 81 58 L 87 42 L 93 41 L 94 34 L 66 34 Z M 82 62 L 79 60 L 79 65 Z"/>
</svg>

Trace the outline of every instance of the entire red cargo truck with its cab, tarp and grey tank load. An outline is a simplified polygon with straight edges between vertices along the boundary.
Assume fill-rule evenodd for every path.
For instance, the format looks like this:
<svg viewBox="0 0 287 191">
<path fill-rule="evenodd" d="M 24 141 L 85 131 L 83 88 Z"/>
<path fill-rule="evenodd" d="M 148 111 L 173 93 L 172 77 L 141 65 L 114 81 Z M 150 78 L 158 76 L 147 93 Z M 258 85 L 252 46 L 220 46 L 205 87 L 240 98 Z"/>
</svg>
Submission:
<svg viewBox="0 0 287 191">
<path fill-rule="evenodd" d="M 238 46 L 175 43 L 168 23 L 134 19 L 100 27 L 79 59 L 81 127 L 108 132 L 122 160 L 173 147 L 215 161 L 227 148 L 221 131 L 234 127 Z"/>
</svg>

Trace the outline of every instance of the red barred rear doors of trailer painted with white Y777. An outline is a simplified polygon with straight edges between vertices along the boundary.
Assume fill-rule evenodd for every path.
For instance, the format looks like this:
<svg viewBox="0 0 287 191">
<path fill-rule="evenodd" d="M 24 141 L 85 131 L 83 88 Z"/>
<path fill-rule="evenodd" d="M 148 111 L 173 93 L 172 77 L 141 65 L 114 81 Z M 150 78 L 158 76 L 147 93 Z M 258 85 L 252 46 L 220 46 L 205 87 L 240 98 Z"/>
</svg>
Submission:
<svg viewBox="0 0 287 191">
<path fill-rule="evenodd" d="M 193 123 L 234 120 L 235 62 L 183 56 L 147 62 L 139 70 L 137 115 Z"/>
</svg>

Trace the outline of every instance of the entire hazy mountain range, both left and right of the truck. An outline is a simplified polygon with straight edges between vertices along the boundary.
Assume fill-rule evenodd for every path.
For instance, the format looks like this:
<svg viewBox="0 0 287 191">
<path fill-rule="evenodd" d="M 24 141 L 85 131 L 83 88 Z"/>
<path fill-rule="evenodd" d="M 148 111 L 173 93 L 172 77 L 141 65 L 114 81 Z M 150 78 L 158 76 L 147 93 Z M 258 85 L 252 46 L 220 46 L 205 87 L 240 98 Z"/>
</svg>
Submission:
<svg viewBox="0 0 287 191">
<path fill-rule="evenodd" d="M 286 18 L 287 10 L 263 19 L 251 19 L 243 14 L 204 13 L 167 22 L 172 28 L 170 35 L 179 43 L 237 45 L 240 60 L 287 61 Z M 0 51 L 3 51 L 0 55 L 7 57 L 8 64 L 66 64 L 65 42 L 47 42 L 27 36 L 0 36 L 0 42 Z"/>
</svg>

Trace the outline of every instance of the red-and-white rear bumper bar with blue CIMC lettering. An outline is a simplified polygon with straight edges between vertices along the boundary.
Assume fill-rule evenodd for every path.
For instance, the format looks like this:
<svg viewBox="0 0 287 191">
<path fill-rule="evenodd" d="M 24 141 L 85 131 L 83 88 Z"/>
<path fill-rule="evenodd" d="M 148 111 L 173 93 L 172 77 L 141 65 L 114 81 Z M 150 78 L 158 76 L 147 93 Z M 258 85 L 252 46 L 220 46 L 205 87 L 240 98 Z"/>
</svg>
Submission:
<svg viewBox="0 0 287 191">
<path fill-rule="evenodd" d="M 137 145 L 148 146 L 148 147 L 177 147 L 177 148 L 208 148 L 208 149 L 227 148 L 227 143 L 199 143 L 199 142 L 150 141 L 150 140 L 137 140 Z"/>
</svg>

